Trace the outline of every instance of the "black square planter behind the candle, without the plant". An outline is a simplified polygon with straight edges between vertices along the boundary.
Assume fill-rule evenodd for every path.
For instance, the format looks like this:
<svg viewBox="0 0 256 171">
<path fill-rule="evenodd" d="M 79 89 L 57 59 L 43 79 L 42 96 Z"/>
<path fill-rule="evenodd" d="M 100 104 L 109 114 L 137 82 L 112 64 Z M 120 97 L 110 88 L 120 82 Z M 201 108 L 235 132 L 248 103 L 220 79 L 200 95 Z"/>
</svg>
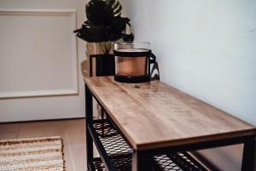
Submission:
<svg viewBox="0 0 256 171">
<path fill-rule="evenodd" d="M 92 77 L 92 60 L 96 62 L 96 76 L 114 75 L 114 55 L 113 54 L 90 54 L 90 77 Z"/>
</svg>

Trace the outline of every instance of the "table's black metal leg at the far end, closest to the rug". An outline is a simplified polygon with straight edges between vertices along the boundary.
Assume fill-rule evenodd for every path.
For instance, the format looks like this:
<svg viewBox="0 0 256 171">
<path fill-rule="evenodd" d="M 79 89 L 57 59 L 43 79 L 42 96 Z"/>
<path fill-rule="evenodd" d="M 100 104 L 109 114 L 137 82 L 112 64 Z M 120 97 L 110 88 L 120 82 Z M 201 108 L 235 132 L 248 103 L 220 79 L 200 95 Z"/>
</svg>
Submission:
<svg viewBox="0 0 256 171">
<path fill-rule="evenodd" d="M 86 157 L 87 157 L 87 168 L 90 170 L 90 163 L 93 160 L 93 144 L 90 137 L 88 123 L 92 121 L 92 95 L 85 84 L 85 129 L 86 129 Z"/>
</svg>

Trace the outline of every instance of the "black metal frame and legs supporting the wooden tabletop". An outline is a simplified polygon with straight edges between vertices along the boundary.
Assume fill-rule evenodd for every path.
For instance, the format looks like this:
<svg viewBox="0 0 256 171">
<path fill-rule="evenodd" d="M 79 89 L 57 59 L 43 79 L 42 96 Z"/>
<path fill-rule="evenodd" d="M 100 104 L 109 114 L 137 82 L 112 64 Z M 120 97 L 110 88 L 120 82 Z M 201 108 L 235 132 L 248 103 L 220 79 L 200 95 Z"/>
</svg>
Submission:
<svg viewBox="0 0 256 171">
<path fill-rule="evenodd" d="M 110 161 L 108 161 L 107 153 L 104 152 L 103 146 L 97 143 L 96 134 L 91 129 L 92 124 L 92 97 L 101 105 L 96 96 L 90 92 L 90 88 L 85 84 L 85 116 L 86 116 L 86 143 L 87 143 L 87 166 L 89 170 L 91 169 L 91 164 L 93 162 L 93 140 L 99 149 L 100 155 L 102 156 L 102 161 L 105 166 L 111 166 Z M 101 105 L 102 107 L 102 105 Z M 107 113 L 108 115 L 108 113 Z M 111 119 L 111 118 L 110 118 Z M 112 121 L 113 122 L 113 121 Z M 114 123 L 113 123 L 114 124 Z M 124 137 L 125 138 L 125 137 Z M 127 141 L 129 144 L 129 141 Z M 151 168 L 150 160 L 154 155 L 164 154 L 167 152 L 177 152 L 177 151 L 195 151 L 201 149 L 207 149 L 212 147 L 224 146 L 224 145 L 236 145 L 244 144 L 241 171 L 253 171 L 254 162 L 254 151 L 255 151 L 255 135 L 247 135 L 234 138 L 223 138 L 221 140 L 209 140 L 207 142 L 201 143 L 191 143 L 188 145 L 176 145 L 167 148 L 157 148 L 150 150 L 137 150 L 132 151 L 132 171 L 148 171 Z M 103 151 L 103 152 L 102 152 Z M 108 168 L 109 171 L 114 170 L 113 168 Z"/>
</svg>

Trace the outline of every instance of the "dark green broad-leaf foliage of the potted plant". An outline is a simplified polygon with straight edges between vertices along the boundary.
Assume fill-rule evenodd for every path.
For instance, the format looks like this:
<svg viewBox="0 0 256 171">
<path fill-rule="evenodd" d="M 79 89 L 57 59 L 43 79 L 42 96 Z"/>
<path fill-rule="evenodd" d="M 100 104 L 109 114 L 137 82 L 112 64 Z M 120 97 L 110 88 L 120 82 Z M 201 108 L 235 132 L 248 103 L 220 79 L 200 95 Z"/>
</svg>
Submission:
<svg viewBox="0 0 256 171">
<path fill-rule="evenodd" d="M 90 0 L 85 5 L 87 20 L 81 28 L 75 30 L 77 37 L 90 43 L 106 42 L 108 45 L 111 42 L 117 41 L 120 38 L 124 40 L 133 39 L 133 35 L 125 34 L 126 26 L 130 25 L 130 20 L 121 17 L 122 5 L 119 0 Z M 105 50 L 109 51 L 108 47 Z"/>
</svg>

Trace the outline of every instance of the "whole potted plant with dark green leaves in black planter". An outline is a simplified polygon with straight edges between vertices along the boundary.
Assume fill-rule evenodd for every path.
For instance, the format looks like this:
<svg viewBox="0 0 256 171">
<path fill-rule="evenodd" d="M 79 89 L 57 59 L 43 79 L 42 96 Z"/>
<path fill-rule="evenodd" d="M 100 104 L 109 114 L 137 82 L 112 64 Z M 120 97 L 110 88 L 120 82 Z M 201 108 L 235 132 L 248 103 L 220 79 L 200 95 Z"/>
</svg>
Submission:
<svg viewBox="0 0 256 171">
<path fill-rule="evenodd" d="M 96 43 L 103 54 L 90 54 L 96 58 L 96 76 L 114 75 L 114 56 L 109 54 L 113 42 L 123 38 L 133 41 L 133 35 L 126 34 L 129 19 L 121 16 L 122 6 L 118 0 L 91 0 L 85 6 L 87 20 L 75 30 L 76 36 L 88 43 Z"/>
</svg>

